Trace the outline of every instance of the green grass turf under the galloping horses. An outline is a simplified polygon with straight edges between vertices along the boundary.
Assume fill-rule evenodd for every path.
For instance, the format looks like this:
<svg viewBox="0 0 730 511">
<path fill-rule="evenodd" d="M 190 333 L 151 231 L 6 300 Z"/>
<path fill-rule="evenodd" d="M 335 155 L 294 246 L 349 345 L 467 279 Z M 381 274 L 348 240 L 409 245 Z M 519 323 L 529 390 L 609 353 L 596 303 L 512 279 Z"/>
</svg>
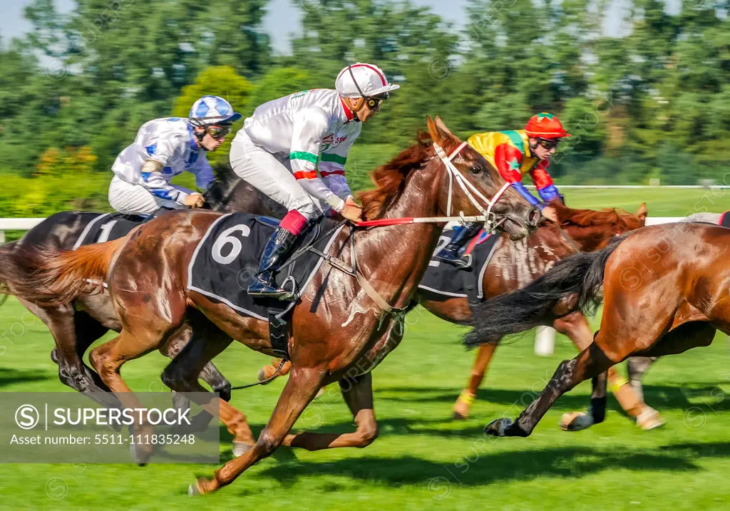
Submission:
<svg viewBox="0 0 730 511">
<path fill-rule="evenodd" d="M 0 308 L 2 391 L 69 391 L 49 359 L 53 339 L 15 299 Z M 23 323 L 26 323 L 23 325 Z M 728 342 L 665 358 L 646 378 L 646 398 L 667 425 L 642 432 L 610 398 L 607 420 L 588 431 L 558 429 L 561 414 L 582 409 L 590 384 L 560 399 L 527 439 L 483 435 L 489 420 L 514 417 L 575 352 L 558 337 L 556 353 L 533 355 L 526 334 L 499 348 L 472 418 L 450 420 L 473 353 L 458 328 L 417 309 L 401 346 L 374 371 L 380 438 L 364 450 L 309 453 L 282 448 L 228 488 L 191 499 L 185 491 L 213 465 L 0 465 L 0 508 L 7 510 L 696 510 L 730 502 Z M 22 325 L 22 328 L 21 328 Z M 7 333 L 6 333 L 7 331 Z M 216 360 L 246 383 L 268 359 L 242 345 Z M 123 376 L 137 391 L 161 391 L 165 359 L 132 361 Z M 283 380 L 234 393 L 256 433 Z M 295 429 L 345 432 L 352 418 L 335 387 Z M 221 458 L 231 456 L 222 432 Z M 64 494 L 65 493 L 65 494 Z M 52 499 L 50 496 L 62 496 Z"/>
</svg>

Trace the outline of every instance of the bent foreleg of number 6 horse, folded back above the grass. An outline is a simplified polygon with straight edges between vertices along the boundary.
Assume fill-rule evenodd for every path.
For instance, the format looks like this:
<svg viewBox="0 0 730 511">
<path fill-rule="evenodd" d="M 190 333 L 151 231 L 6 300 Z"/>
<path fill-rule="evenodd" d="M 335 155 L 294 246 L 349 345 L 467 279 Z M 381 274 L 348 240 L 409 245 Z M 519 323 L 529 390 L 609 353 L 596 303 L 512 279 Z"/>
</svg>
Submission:
<svg viewBox="0 0 730 511">
<path fill-rule="evenodd" d="M 377 438 L 377 423 L 372 398 L 372 373 L 339 381 L 342 397 L 353 412 L 357 429 L 354 433 L 299 433 L 288 434 L 284 445 L 304 447 L 307 450 L 334 449 L 335 447 L 367 447 Z"/>
</svg>

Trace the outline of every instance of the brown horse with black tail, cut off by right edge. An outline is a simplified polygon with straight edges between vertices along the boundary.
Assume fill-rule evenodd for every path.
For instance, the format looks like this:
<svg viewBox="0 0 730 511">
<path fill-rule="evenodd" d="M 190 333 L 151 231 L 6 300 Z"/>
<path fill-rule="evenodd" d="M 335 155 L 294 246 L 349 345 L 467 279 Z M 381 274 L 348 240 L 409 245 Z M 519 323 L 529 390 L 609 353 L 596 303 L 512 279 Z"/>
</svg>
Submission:
<svg viewBox="0 0 730 511">
<path fill-rule="evenodd" d="M 558 366 L 517 420 L 494 420 L 485 432 L 528 436 L 558 397 L 588 378 L 597 421 L 605 412 L 603 374 L 610 366 L 632 355 L 664 356 L 710 345 L 716 329 L 730 334 L 729 246 L 730 230 L 722 227 L 645 227 L 598 252 L 565 258 L 526 288 L 478 305 L 469 345 L 497 342 L 577 308 L 591 310 L 601 289 L 604 297 L 601 328 L 591 345 Z"/>
</svg>

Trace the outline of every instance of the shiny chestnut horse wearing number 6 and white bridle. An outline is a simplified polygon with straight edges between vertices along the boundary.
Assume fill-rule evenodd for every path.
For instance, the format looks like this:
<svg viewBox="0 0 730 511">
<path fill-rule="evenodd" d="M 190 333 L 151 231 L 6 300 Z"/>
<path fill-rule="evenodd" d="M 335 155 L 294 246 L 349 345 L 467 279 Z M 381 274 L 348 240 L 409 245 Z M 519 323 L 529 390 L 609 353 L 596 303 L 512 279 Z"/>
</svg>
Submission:
<svg viewBox="0 0 730 511">
<path fill-rule="evenodd" d="M 447 212 L 447 204 L 466 215 L 479 214 L 482 207 L 474 204 L 473 196 L 467 196 L 460 187 L 449 186 L 450 176 L 456 172 L 483 196 L 494 196 L 502 189 L 504 180 L 496 169 L 471 147 L 462 145 L 439 118 L 435 123 L 429 118 L 429 134 L 434 144 L 452 153 L 453 163 L 434 156 L 434 145 L 425 141 L 405 150 L 374 172 L 378 188 L 362 196 L 368 218 L 431 218 Z M 539 212 L 512 188 L 507 188 L 492 211 L 504 220 L 502 228 L 513 239 L 537 228 Z M 92 350 L 90 359 L 104 383 L 119 392 L 127 406 L 133 407 L 136 399 L 128 393 L 120 367 L 155 350 L 174 334 L 183 325 L 188 306 L 201 310 L 220 328 L 211 328 L 207 342 L 196 345 L 201 353 L 186 357 L 197 366 L 218 355 L 231 338 L 272 354 L 266 321 L 240 316 L 228 305 L 187 289 L 187 268 L 193 251 L 217 218 L 220 215 L 216 213 L 197 211 L 163 215 L 136 228 L 126 238 L 75 252 L 48 254 L 37 280 L 25 283 L 26 296 L 33 295 L 29 286 L 36 289 L 35 298 L 40 301 L 69 301 L 80 292 L 98 289 L 101 280 L 107 278 L 123 329 L 118 337 Z M 349 261 L 350 250 L 355 250 L 358 268 L 380 299 L 405 308 L 426 271 L 441 230 L 442 224 L 434 223 L 358 229 L 354 234 L 356 243 L 350 245 L 350 229 L 344 228 L 330 253 Z M 23 288 L 23 283 L 16 283 L 18 286 Z M 321 266 L 293 309 L 288 346 L 291 375 L 269 423 L 250 450 L 228 461 L 212 480 L 201 479 L 191 485 L 191 491 L 208 493 L 228 485 L 282 443 L 310 450 L 369 445 L 377 435 L 370 370 L 400 342 L 402 319 L 403 315 L 385 312 L 349 275 Z M 183 353 L 193 349 L 191 345 Z M 165 369 L 164 381 L 177 383 L 176 391 L 204 391 L 197 381 L 197 367 L 181 368 L 176 364 L 179 359 L 176 357 Z M 187 385 L 180 385 L 176 372 L 193 377 Z M 357 431 L 288 435 L 319 388 L 336 381 L 353 412 Z M 201 404 L 208 407 L 211 403 L 212 399 Z M 225 401 L 216 404 L 226 424 L 242 415 Z"/>
</svg>

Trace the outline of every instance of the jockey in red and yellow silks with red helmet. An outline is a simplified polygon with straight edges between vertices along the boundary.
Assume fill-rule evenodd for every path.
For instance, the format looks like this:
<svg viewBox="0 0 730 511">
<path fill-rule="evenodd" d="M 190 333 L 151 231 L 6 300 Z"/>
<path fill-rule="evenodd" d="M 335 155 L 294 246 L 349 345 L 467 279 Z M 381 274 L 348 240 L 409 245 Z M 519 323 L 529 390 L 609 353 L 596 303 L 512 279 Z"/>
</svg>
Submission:
<svg viewBox="0 0 730 511">
<path fill-rule="evenodd" d="M 560 120 L 553 114 L 543 112 L 533 115 L 523 130 L 478 133 L 469 137 L 469 145 L 495 166 L 504 180 L 512 183 L 512 187 L 530 204 L 539 207 L 542 215 L 557 221 L 555 210 L 547 203 L 556 198 L 563 201 L 563 196 L 553 184 L 548 166 L 558 143 L 564 137 L 570 137 L 570 134 L 565 131 Z M 530 174 L 542 203 L 522 184 L 524 174 Z M 480 228 L 479 223 L 466 223 L 455 228 L 451 242 L 437 253 L 436 258 L 455 266 L 469 266 L 470 258 L 464 258 L 459 252 Z"/>
</svg>

